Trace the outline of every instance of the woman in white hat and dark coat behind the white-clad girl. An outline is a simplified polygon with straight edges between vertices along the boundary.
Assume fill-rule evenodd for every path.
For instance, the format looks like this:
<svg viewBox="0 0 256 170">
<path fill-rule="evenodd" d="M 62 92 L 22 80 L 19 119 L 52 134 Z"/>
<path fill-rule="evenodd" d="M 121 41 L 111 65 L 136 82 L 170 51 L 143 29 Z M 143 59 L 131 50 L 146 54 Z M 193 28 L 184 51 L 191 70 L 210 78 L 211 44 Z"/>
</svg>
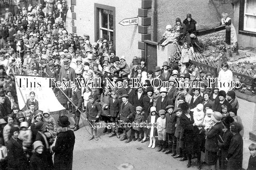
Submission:
<svg viewBox="0 0 256 170">
<path fill-rule="evenodd" d="M 159 110 L 162 110 L 162 109 L 164 110 L 166 106 L 173 104 L 171 99 L 167 97 L 167 89 L 165 87 L 161 87 L 160 94 L 161 96 L 158 97 L 157 104 L 156 104 L 157 112 L 159 112 Z"/>
</svg>

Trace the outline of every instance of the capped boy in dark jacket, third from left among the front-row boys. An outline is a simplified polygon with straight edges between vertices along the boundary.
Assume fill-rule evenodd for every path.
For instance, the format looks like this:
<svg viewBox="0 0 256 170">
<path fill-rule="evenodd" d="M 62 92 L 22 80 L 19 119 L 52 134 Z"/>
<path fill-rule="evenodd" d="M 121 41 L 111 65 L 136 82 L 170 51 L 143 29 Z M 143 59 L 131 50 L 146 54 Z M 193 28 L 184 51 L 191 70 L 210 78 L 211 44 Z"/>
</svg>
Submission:
<svg viewBox="0 0 256 170">
<path fill-rule="evenodd" d="M 127 127 L 127 123 L 133 122 L 134 116 L 135 116 L 135 110 L 134 110 L 134 106 L 130 102 L 128 102 L 127 94 L 123 94 L 121 98 L 122 98 L 122 104 L 120 107 L 120 112 L 118 117 L 120 117 L 120 121 L 121 121 L 120 124 L 122 125 L 122 128 L 123 128 L 123 136 L 120 139 L 120 141 L 127 139 L 125 143 L 129 143 L 132 141 L 131 127 Z"/>
</svg>

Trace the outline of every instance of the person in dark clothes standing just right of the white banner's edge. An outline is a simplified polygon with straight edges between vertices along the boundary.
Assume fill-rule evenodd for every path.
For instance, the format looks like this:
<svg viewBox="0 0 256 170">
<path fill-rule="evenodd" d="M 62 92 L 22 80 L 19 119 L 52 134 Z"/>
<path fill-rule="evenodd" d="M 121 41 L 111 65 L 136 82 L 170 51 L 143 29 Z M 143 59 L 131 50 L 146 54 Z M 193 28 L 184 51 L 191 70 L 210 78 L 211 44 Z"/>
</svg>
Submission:
<svg viewBox="0 0 256 170">
<path fill-rule="evenodd" d="M 80 112 L 78 110 L 82 109 L 82 103 L 83 103 L 83 98 L 80 89 L 77 88 L 75 82 L 71 84 L 72 88 L 72 102 L 73 102 L 73 107 L 72 107 L 72 115 L 74 118 L 75 124 L 73 125 L 72 129 L 73 131 L 76 131 L 79 129 L 79 120 L 80 120 Z"/>
</svg>

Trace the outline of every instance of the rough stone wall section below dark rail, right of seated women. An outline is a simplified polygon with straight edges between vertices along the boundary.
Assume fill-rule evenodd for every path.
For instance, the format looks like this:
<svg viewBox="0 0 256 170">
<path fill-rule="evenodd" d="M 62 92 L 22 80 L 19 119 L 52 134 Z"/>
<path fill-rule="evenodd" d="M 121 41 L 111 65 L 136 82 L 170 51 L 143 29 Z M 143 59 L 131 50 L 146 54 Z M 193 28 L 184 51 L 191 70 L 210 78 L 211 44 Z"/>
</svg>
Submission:
<svg viewBox="0 0 256 170">
<path fill-rule="evenodd" d="M 199 42 L 207 42 L 209 40 L 211 41 L 217 41 L 217 40 L 223 40 L 225 41 L 225 35 L 226 35 L 226 30 L 221 30 L 221 31 L 217 31 L 214 33 L 210 33 L 210 34 L 205 34 L 205 35 L 201 35 L 201 36 L 197 36 Z"/>
</svg>

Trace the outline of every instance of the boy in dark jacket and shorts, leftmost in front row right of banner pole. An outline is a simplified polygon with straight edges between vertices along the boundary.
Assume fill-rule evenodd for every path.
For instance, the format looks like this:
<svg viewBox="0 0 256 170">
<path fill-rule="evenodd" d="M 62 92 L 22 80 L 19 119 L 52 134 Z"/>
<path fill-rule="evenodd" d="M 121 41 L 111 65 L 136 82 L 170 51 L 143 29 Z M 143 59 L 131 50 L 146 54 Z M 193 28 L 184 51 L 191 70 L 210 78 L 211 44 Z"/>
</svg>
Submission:
<svg viewBox="0 0 256 170">
<path fill-rule="evenodd" d="M 98 141 L 97 128 L 93 127 L 92 125 L 94 125 L 95 123 L 98 123 L 101 112 L 102 112 L 102 109 L 101 109 L 100 103 L 94 100 L 93 95 L 90 95 L 89 102 L 87 102 L 86 110 L 85 110 L 85 116 L 91 124 L 91 134 L 93 134 L 89 138 L 89 140 L 92 140 L 93 138 L 95 138 L 95 140 Z"/>
</svg>

